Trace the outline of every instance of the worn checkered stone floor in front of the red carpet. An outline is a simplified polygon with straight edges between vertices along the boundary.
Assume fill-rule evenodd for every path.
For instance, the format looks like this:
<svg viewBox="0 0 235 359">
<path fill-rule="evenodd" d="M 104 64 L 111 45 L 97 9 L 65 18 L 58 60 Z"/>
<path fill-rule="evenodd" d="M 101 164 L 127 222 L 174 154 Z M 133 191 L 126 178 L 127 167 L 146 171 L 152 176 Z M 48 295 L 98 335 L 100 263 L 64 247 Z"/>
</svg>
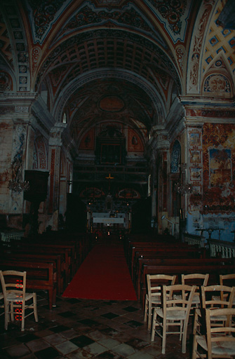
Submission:
<svg viewBox="0 0 235 359">
<path fill-rule="evenodd" d="M 101 300 L 58 297 L 57 307 L 48 309 L 46 292 L 37 293 L 39 322 L 20 321 L 4 330 L 0 317 L 0 358 L 53 359 L 187 359 L 190 358 L 191 336 L 187 353 L 181 353 L 179 336 L 168 334 L 166 354 L 161 354 L 161 338 L 152 342 L 143 321 L 139 302 L 107 302 Z M 189 325 L 189 334 L 191 332 Z"/>
</svg>

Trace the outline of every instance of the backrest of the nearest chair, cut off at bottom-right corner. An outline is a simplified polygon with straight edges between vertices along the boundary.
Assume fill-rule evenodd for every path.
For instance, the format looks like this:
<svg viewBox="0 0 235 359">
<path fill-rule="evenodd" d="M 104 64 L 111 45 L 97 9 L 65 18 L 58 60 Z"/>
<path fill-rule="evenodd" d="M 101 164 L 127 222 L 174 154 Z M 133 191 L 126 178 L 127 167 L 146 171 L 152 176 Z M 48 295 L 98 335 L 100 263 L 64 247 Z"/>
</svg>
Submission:
<svg viewBox="0 0 235 359">
<path fill-rule="evenodd" d="M 220 358 L 230 358 L 229 346 L 235 351 L 235 309 L 205 309 L 206 312 L 206 341 L 208 348 L 208 358 L 212 358 L 212 346 L 216 343 L 217 355 Z M 221 318 L 225 320 L 221 321 Z M 222 324 L 223 323 L 223 324 Z M 229 345 L 230 344 L 230 345 Z M 214 349 L 215 350 L 215 349 Z M 214 358 L 214 357 L 213 357 Z"/>
</svg>

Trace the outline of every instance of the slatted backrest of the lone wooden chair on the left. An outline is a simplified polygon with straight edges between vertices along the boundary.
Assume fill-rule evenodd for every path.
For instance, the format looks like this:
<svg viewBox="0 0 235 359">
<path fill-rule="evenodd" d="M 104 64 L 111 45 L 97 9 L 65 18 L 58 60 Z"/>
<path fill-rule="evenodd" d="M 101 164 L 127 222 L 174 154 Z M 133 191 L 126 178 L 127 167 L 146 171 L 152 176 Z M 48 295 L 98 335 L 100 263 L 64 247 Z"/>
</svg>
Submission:
<svg viewBox="0 0 235 359">
<path fill-rule="evenodd" d="M 26 271 L 0 271 L 1 287 L 4 299 L 17 296 L 25 301 Z"/>
</svg>

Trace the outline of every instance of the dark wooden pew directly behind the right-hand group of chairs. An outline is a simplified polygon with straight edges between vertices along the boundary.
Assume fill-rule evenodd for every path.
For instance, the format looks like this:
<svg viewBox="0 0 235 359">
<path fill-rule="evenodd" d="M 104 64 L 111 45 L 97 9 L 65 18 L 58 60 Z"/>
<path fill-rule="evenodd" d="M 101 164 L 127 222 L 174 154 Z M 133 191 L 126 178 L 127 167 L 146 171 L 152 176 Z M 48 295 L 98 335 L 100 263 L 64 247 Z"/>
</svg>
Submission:
<svg viewBox="0 0 235 359">
<path fill-rule="evenodd" d="M 226 273 L 235 273 L 235 264 L 199 264 L 199 265 L 158 265 L 158 266 L 147 266 L 144 265 L 142 267 L 142 275 L 141 275 L 141 295 L 140 300 L 142 305 L 145 303 L 145 295 L 147 291 L 147 282 L 146 276 L 147 274 L 175 274 L 180 280 L 181 274 L 187 273 L 209 273 L 209 281 L 210 284 L 219 284 L 219 276 L 220 274 Z"/>
</svg>

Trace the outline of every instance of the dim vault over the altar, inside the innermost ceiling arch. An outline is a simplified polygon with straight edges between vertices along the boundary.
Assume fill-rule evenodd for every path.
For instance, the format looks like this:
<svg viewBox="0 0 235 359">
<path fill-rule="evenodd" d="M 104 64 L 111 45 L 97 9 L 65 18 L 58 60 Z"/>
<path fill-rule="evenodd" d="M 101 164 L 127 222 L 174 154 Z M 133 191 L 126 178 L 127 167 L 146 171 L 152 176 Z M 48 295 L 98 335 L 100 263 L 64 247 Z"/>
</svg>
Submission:
<svg viewBox="0 0 235 359">
<path fill-rule="evenodd" d="M 81 128 L 94 120 L 121 121 L 124 126 L 131 127 L 133 118 L 142 123 L 148 131 L 166 117 L 166 111 L 161 97 L 153 86 L 147 87 L 146 81 L 130 72 L 104 69 L 88 74 L 74 81 L 60 94 L 55 104 L 55 118 L 61 119 L 66 112 L 71 118 L 69 126 Z M 125 104 L 121 111 L 110 111 L 105 114 L 100 111 L 100 99 L 103 96 L 115 95 Z M 89 100 L 88 100 L 89 99 Z M 89 103 L 90 101 L 90 103 Z"/>
</svg>

